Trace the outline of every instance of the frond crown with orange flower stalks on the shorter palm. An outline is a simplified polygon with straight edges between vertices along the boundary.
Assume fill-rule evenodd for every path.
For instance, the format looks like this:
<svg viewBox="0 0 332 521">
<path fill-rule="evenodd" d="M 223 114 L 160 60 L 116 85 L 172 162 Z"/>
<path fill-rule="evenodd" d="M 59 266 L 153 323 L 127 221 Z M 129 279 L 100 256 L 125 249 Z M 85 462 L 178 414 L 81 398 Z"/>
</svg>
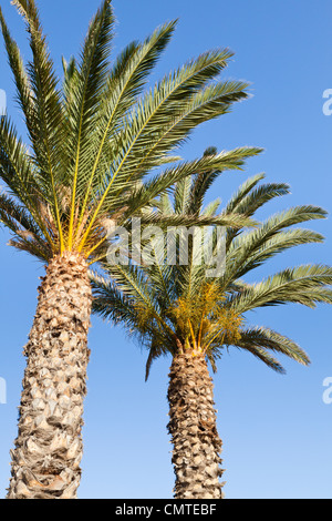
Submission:
<svg viewBox="0 0 332 521">
<path fill-rule="evenodd" d="M 159 201 L 163 215 L 216 215 L 220 202 L 204 208 L 207 190 L 218 173 L 196 174 L 177 183 L 174 198 Z M 249 178 L 232 196 L 219 217 L 236 212 L 251 217 L 273 197 L 289 193 L 283 183 L 259 184 L 263 174 Z M 228 227 L 224 234 L 224 269 L 209 276 L 209 265 L 200 256 L 194 241 L 189 243 L 188 264 L 165 264 L 164 244 L 152 241 L 154 262 L 147 265 L 107 265 L 110 277 L 93 275 L 94 310 L 129 333 L 138 336 L 148 348 L 148 375 L 152 361 L 160 355 L 173 356 L 189 349 L 203 353 L 216 369 L 222 349 L 236 346 L 282 372 L 280 362 L 271 355 L 279 353 L 307 365 L 305 353 L 290 338 L 266 327 L 247 325 L 247 311 L 257 307 L 300 303 L 314 307 L 331 303 L 332 268 L 324 265 L 302 265 L 283 269 L 257 284 L 242 277 L 287 248 L 323 241 L 321 234 L 293 227 L 299 223 L 324 218 L 325 212 L 315 206 L 295 206 L 269 217 L 253 228 Z M 205 239 L 206 241 L 206 239 Z M 220 247 L 217 227 L 209 233 L 210 251 Z M 204 247 L 204 244 L 198 246 Z M 197 262 L 197 254 L 199 262 Z"/>
</svg>

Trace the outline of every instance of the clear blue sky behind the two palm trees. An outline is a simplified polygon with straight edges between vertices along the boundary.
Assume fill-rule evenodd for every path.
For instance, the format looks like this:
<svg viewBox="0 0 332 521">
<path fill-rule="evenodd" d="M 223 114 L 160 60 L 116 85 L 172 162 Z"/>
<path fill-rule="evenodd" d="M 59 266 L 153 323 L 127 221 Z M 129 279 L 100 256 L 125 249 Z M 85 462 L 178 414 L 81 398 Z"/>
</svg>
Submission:
<svg viewBox="0 0 332 521">
<path fill-rule="evenodd" d="M 29 47 L 23 24 L 9 0 L 1 7 L 24 57 Z M 56 67 L 61 55 L 80 50 L 97 0 L 40 1 L 43 24 Z M 183 150 L 199 156 L 219 150 L 257 145 L 264 153 L 243 173 L 227 173 L 210 197 L 230 196 L 249 175 L 266 172 L 270 182 L 291 185 L 292 194 L 267 206 L 274 213 L 295 204 L 315 204 L 330 213 L 332 116 L 322 112 L 323 92 L 332 89 L 330 0 L 114 0 L 117 18 L 114 55 L 132 40 L 143 39 L 166 20 L 178 29 L 154 78 L 200 52 L 229 47 L 234 62 L 225 78 L 251 82 L 253 96 L 235 111 L 205 124 Z M 23 133 L 13 99 L 12 79 L 0 44 L 0 89 Z M 267 217 L 264 212 L 262 217 Z M 323 245 L 302 246 L 281 255 L 256 274 L 261 277 L 302 263 L 332 264 L 331 217 L 310 227 Z M 43 268 L 28 255 L 6 246 L 0 232 L 0 377 L 7 380 L 7 405 L 0 405 L 0 496 L 9 479 L 9 450 L 17 435 L 17 407 L 27 343 Z M 332 405 L 322 400 L 323 380 L 332 377 L 331 311 L 295 305 L 252 313 L 266 325 L 297 340 L 309 354 L 309 368 L 282 359 L 287 376 L 236 350 L 225 355 L 215 377 L 218 429 L 224 440 L 226 497 L 332 498 Z M 174 484 L 167 425 L 170 360 L 157 360 L 144 382 L 146 354 L 121 329 L 93 318 L 85 400 L 83 479 L 80 498 L 172 498 Z"/>
</svg>

